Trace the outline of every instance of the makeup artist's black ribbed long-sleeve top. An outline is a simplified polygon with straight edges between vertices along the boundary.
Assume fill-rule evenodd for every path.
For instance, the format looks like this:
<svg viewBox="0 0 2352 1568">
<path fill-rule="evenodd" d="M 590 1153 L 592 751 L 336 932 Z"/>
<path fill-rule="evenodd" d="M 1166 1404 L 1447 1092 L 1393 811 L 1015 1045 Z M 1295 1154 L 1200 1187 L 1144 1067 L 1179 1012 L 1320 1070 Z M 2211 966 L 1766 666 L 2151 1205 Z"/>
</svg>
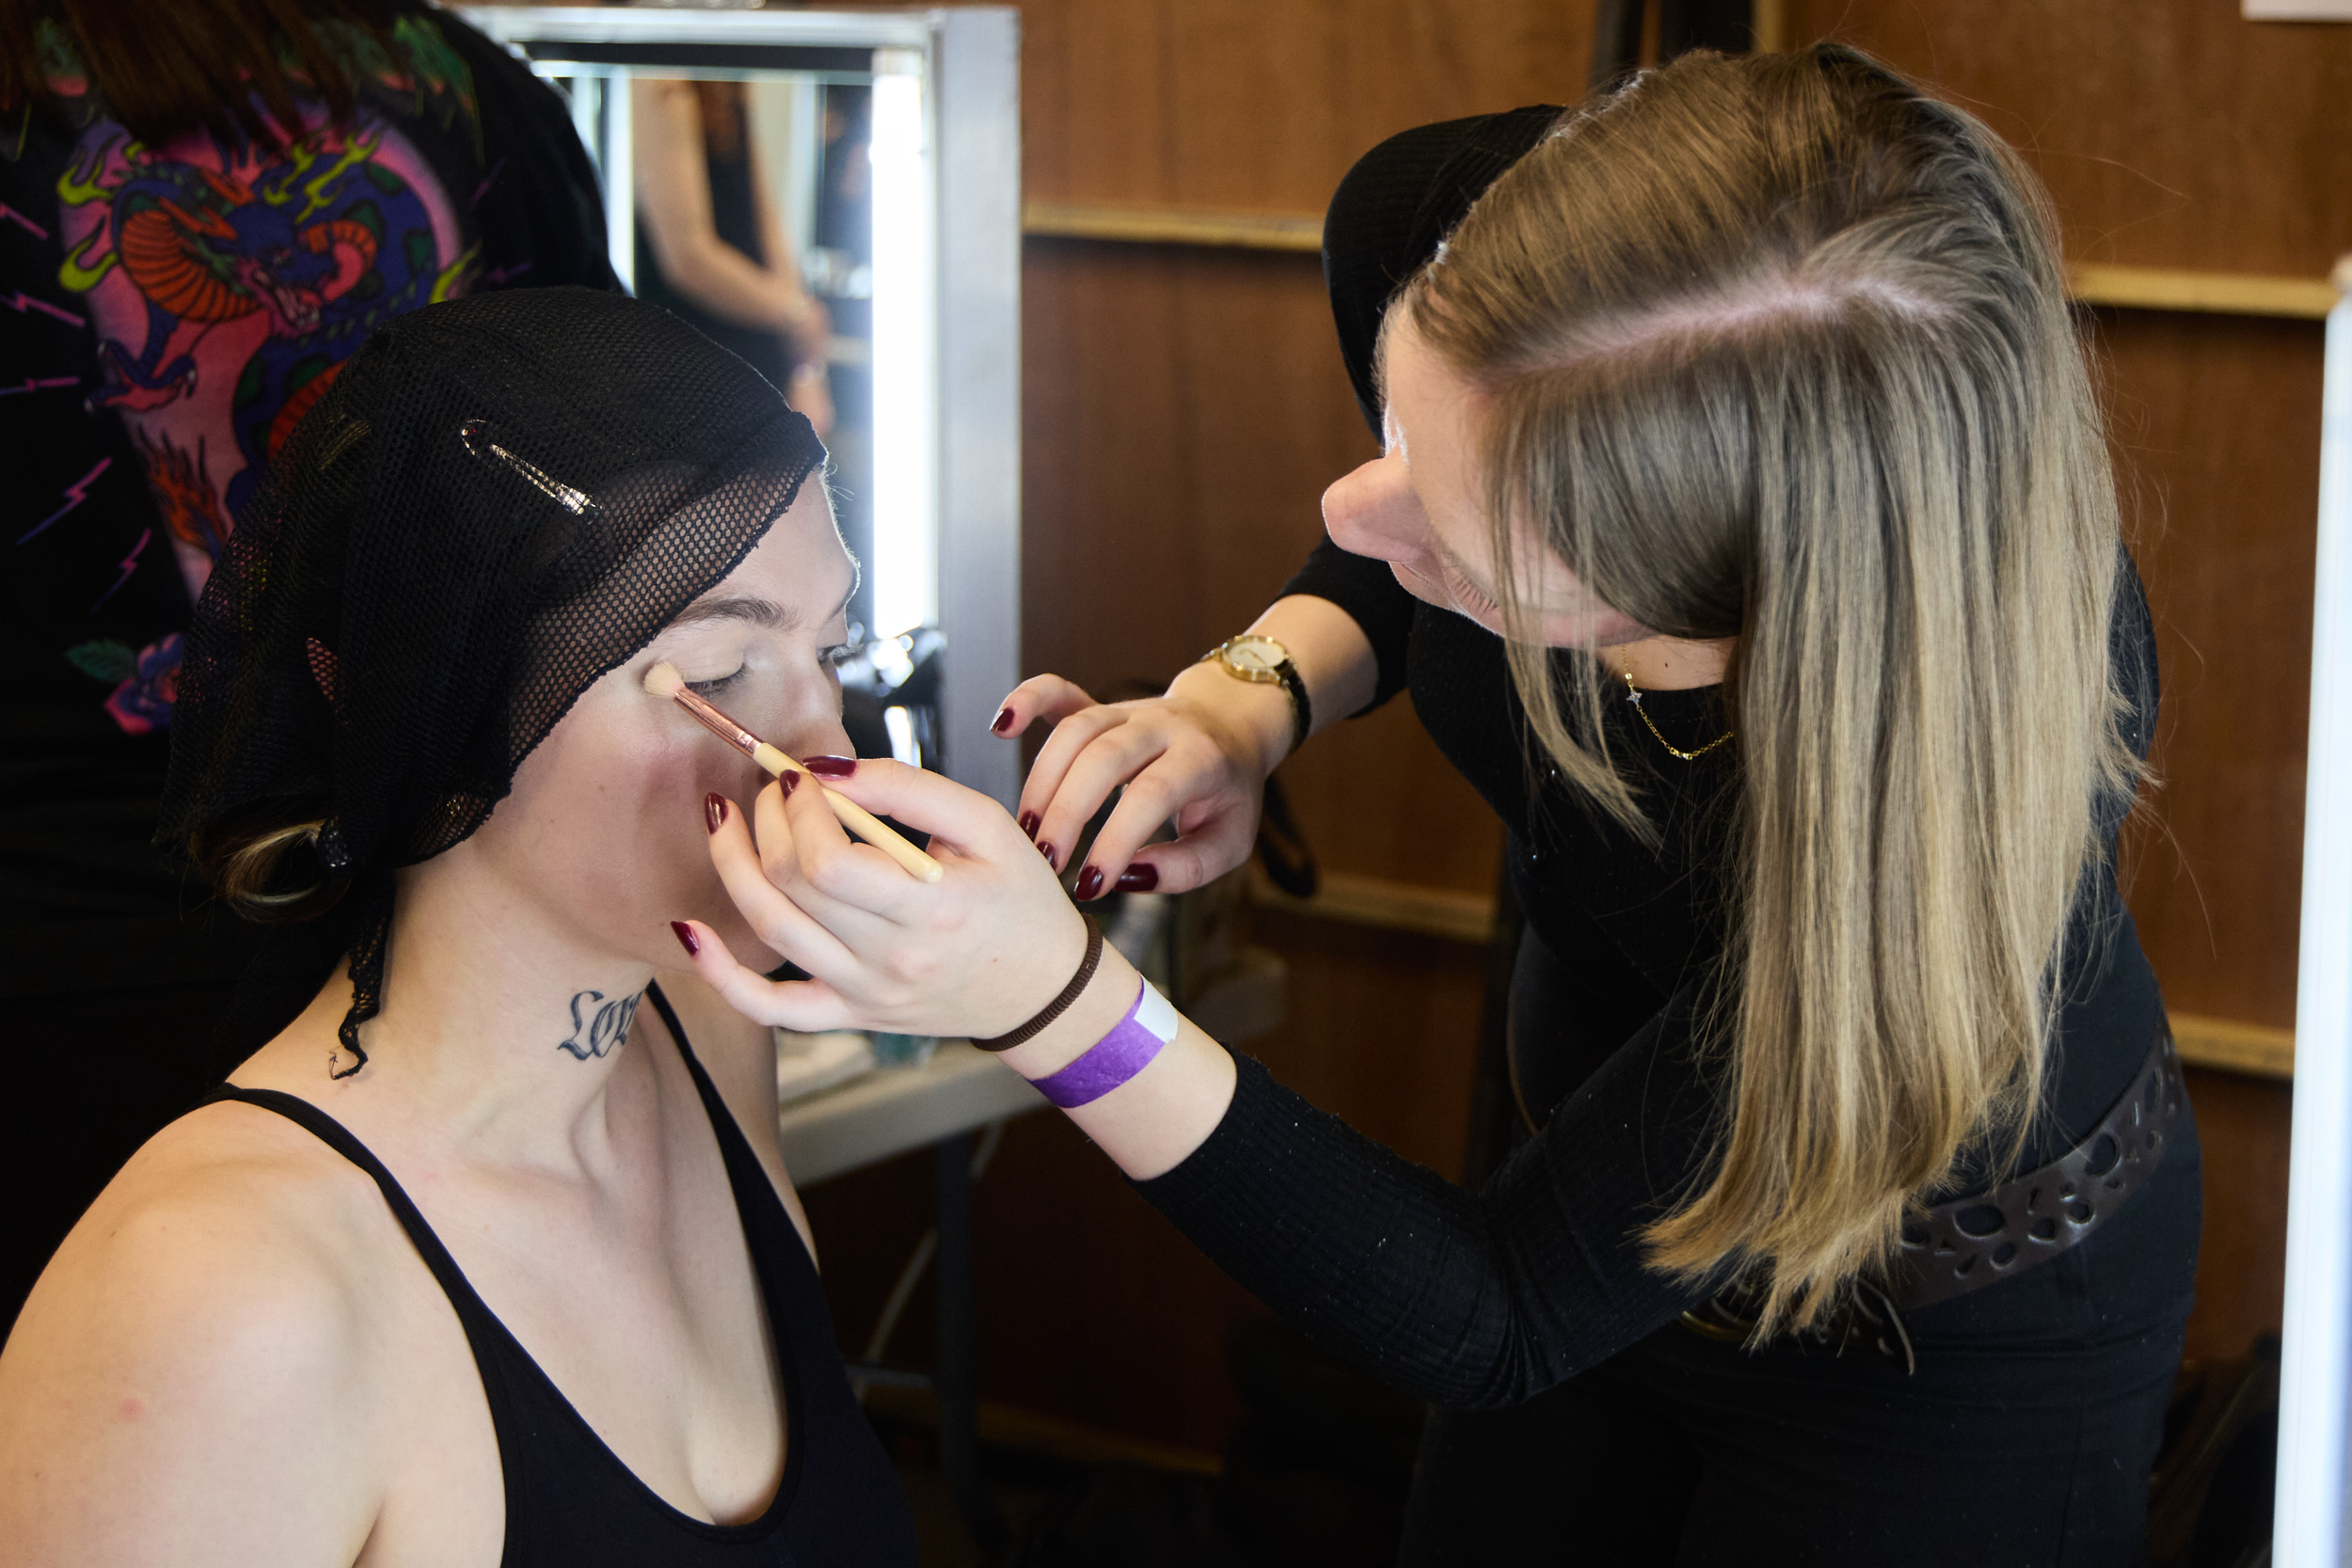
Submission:
<svg viewBox="0 0 2352 1568">
<path fill-rule="evenodd" d="M 1324 268 L 1369 421 L 1376 423 L 1371 343 L 1388 294 L 1555 113 L 1515 110 L 1409 132 L 1367 155 L 1341 186 L 1324 230 Z M 2119 559 L 2112 649 L 2122 684 L 2136 696 L 2131 741 L 2145 755 L 2157 701 L 2154 644 L 2138 576 L 2129 557 Z M 1138 1190 L 1261 1300 L 1385 1380 L 1444 1406 L 1517 1403 L 1663 1328 L 1710 1293 L 1651 1269 L 1639 1229 L 1693 1190 L 1722 1124 L 1691 1018 L 1722 952 L 1712 917 L 1722 907 L 1715 851 L 1729 823 L 1738 752 L 1726 745 L 1677 762 L 1639 729 L 1639 717 L 1611 705 L 1611 750 L 1649 769 L 1639 783 L 1663 823 L 1661 846 L 1649 849 L 1529 762 L 1498 637 L 1411 599 L 1385 564 L 1352 557 L 1329 538 L 1287 592 L 1324 597 L 1364 628 L 1381 668 L 1376 701 L 1409 686 L 1430 736 L 1510 827 L 1512 886 L 1569 999 L 1552 1009 L 1557 1039 L 1538 1041 L 1536 1053 L 1564 1065 L 1559 1081 L 1573 1093 L 1482 1192 L 1465 1192 L 1242 1058 L 1232 1107 L 1209 1140 Z M 1682 750 L 1724 731 L 1717 689 L 1658 691 L 1644 701 Z M 2126 809 L 2129 802 L 2103 804 L 2107 844 Z M 2025 1168 L 2077 1143 L 2122 1098 L 2164 1027 L 2161 997 L 2117 898 L 2112 865 L 2086 877 L 2065 952 L 2046 1114 Z M 2187 1225 L 2194 1246 L 2192 1215 Z M 2126 1251 L 2178 1248 L 2183 1239 L 2143 1225 L 2086 1246 L 2103 1246 L 2114 1262 L 2103 1279 L 2129 1288 Z M 1945 1324 L 1966 1321 L 1957 1305 L 1929 1312 Z"/>
</svg>

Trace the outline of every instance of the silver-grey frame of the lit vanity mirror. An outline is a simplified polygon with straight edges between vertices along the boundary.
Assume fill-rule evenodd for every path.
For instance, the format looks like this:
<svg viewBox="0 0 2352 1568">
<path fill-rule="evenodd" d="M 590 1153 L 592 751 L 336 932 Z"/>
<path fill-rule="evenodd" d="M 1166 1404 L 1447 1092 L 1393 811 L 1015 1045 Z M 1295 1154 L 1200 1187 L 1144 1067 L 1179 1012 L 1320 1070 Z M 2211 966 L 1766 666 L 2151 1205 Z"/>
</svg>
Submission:
<svg viewBox="0 0 2352 1568">
<path fill-rule="evenodd" d="M 990 736 L 988 722 L 1021 679 L 1018 12 L 485 5 L 459 14 L 534 66 L 870 71 L 875 52 L 922 56 L 931 150 L 931 571 L 946 637 L 938 766 L 1014 809 L 1021 748 Z M 612 202 L 609 214 L 616 233 L 630 233 L 628 207 Z"/>
</svg>

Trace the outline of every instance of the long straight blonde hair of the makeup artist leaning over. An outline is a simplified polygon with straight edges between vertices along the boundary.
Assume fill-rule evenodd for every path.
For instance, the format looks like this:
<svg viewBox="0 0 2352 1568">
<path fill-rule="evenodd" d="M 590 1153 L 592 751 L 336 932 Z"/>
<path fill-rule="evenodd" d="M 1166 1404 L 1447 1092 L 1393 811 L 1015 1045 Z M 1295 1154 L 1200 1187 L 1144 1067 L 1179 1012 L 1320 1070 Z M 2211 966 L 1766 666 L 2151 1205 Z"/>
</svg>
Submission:
<svg viewBox="0 0 2352 1568">
<path fill-rule="evenodd" d="M 1863 54 L 1693 54 L 1569 115 L 1399 306 L 1484 395 L 1534 738 L 1628 830 L 1606 672 L 1541 646 L 1515 524 L 1642 625 L 1738 637 L 1724 1124 L 1644 1241 L 1802 1328 L 1962 1150 L 2016 1159 L 2093 799 L 2138 780 L 2046 195 Z"/>
</svg>

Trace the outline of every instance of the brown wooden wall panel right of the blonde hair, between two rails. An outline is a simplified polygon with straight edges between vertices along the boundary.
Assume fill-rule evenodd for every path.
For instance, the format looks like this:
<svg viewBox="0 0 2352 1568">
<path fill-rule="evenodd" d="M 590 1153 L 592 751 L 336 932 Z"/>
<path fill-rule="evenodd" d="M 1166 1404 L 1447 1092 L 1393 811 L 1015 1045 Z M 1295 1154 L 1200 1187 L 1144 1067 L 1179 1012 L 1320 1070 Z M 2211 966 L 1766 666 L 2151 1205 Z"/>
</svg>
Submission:
<svg viewBox="0 0 2352 1568">
<path fill-rule="evenodd" d="M 2100 343 L 2164 677 L 2131 907 L 2173 1009 L 2293 1027 L 2321 327 L 2103 313 Z"/>
</svg>

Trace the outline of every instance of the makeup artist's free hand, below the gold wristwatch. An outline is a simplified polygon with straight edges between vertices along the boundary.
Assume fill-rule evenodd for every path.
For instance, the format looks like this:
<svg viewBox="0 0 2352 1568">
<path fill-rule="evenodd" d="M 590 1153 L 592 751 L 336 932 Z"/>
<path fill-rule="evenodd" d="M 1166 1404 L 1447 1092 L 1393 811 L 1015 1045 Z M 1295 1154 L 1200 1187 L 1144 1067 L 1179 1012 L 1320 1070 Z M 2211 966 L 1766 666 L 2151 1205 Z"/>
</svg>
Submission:
<svg viewBox="0 0 2352 1568">
<path fill-rule="evenodd" d="M 1087 853 L 1080 898 L 1181 893 L 1249 858 L 1265 776 L 1289 738 L 1289 698 L 1279 686 L 1195 670 L 1167 696 L 1138 703 L 1096 703 L 1058 675 L 1025 679 L 1004 698 L 1009 717 L 997 719 L 997 733 L 1054 724 L 1021 788 L 1021 825 L 1056 870 L 1110 792 L 1127 785 Z M 1282 741 L 1270 743 L 1268 726 Z M 1176 839 L 1145 844 L 1169 820 Z"/>
</svg>

